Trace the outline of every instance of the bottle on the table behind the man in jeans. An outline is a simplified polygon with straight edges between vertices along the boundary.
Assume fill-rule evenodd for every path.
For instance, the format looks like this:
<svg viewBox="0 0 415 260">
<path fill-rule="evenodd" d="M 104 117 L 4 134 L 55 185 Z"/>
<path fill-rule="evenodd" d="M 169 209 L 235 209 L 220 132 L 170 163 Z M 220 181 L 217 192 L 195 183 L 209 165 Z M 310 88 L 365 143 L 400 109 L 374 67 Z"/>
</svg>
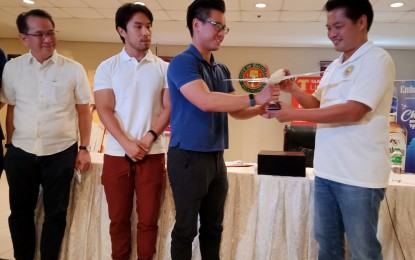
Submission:
<svg viewBox="0 0 415 260">
<path fill-rule="evenodd" d="M 389 153 L 392 157 L 392 153 L 395 148 L 399 148 L 402 153 L 402 167 L 405 171 L 405 159 L 406 159 L 406 142 L 408 137 L 408 131 L 405 127 L 397 123 L 396 120 L 396 106 L 394 107 L 392 101 L 392 108 L 389 113 Z"/>
</svg>

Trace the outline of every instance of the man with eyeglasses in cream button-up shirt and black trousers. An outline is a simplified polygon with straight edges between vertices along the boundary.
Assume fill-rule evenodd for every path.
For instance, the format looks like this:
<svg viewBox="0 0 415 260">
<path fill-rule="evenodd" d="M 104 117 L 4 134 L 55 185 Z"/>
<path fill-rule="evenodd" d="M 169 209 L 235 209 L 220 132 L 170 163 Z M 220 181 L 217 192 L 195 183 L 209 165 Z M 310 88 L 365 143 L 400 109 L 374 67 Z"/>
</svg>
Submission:
<svg viewBox="0 0 415 260">
<path fill-rule="evenodd" d="M 55 24 L 47 12 L 22 13 L 16 23 L 30 51 L 6 63 L 1 89 L 8 104 L 5 170 L 14 256 L 34 258 L 33 216 L 42 186 L 40 254 L 58 259 L 74 168 L 87 170 L 91 161 L 91 91 L 82 65 L 56 52 Z"/>
</svg>

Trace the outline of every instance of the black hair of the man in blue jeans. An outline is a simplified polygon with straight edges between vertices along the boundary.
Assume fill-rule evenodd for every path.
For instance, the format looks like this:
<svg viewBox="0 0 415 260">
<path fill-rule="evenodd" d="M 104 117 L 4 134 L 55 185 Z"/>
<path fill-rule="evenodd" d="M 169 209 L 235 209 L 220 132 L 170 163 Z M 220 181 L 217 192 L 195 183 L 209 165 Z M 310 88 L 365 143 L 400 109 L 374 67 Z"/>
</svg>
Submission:
<svg viewBox="0 0 415 260">
<path fill-rule="evenodd" d="M 337 8 L 344 8 L 347 18 L 356 23 L 362 15 L 367 17 L 367 31 L 373 23 L 373 8 L 369 0 L 329 0 L 324 10 L 330 12 Z"/>
</svg>

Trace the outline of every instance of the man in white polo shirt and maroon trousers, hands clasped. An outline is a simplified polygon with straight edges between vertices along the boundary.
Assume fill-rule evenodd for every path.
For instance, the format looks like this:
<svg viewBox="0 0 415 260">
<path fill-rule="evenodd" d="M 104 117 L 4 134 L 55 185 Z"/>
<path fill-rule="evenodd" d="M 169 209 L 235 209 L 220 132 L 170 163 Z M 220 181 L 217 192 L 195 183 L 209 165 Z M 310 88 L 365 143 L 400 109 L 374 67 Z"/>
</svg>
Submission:
<svg viewBox="0 0 415 260">
<path fill-rule="evenodd" d="M 130 258 L 134 193 L 137 259 L 152 259 L 166 181 L 167 63 L 149 50 L 153 15 L 147 7 L 122 5 L 115 24 L 124 49 L 99 65 L 94 82 L 98 115 L 109 132 L 102 184 L 111 220 L 112 259 Z"/>
</svg>

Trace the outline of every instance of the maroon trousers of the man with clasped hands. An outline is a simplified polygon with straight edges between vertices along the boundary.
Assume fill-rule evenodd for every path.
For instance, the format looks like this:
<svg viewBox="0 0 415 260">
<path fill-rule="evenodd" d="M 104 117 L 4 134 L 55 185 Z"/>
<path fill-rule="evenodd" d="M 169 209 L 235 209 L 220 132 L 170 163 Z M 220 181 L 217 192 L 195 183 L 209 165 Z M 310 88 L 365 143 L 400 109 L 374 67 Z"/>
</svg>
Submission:
<svg viewBox="0 0 415 260">
<path fill-rule="evenodd" d="M 112 259 L 130 259 L 131 213 L 136 195 L 137 259 L 156 253 L 158 218 L 166 183 L 165 155 L 147 155 L 131 165 L 124 157 L 104 155 L 101 177 L 111 220 Z"/>
</svg>

